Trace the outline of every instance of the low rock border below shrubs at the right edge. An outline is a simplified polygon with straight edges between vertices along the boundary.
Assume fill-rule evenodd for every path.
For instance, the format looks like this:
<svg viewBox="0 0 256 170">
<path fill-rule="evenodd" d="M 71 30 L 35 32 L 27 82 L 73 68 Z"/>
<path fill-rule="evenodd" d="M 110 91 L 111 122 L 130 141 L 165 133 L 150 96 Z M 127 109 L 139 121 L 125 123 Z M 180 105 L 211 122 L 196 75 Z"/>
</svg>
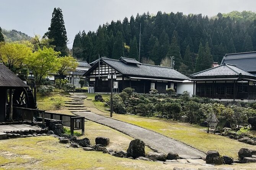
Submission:
<svg viewBox="0 0 256 170">
<path fill-rule="evenodd" d="M 231 128 L 223 128 L 224 132 L 218 134 L 222 136 L 227 136 L 230 139 L 238 140 L 239 142 L 256 145 L 256 137 L 248 133 L 238 134 L 231 130 Z"/>
</svg>

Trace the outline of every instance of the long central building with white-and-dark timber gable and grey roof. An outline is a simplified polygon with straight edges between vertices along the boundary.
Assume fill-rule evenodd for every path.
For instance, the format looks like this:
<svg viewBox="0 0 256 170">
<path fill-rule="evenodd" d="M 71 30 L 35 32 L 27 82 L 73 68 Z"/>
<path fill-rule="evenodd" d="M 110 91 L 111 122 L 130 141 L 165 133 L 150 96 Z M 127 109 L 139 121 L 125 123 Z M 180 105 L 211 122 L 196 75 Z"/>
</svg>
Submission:
<svg viewBox="0 0 256 170">
<path fill-rule="evenodd" d="M 95 87 L 95 92 L 111 91 L 108 80 L 110 72 L 117 75 L 114 80 L 117 85 L 114 90 L 117 92 L 131 87 L 137 93 L 149 93 L 151 88 L 157 89 L 158 93 L 166 93 L 166 88 L 177 90 L 178 83 L 189 80 L 189 77 L 171 67 L 142 64 L 132 58 L 121 57 L 119 60 L 100 58 L 90 64 L 92 67 L 83 76 L 90 80 L 90 86 Z"/>
</svg>

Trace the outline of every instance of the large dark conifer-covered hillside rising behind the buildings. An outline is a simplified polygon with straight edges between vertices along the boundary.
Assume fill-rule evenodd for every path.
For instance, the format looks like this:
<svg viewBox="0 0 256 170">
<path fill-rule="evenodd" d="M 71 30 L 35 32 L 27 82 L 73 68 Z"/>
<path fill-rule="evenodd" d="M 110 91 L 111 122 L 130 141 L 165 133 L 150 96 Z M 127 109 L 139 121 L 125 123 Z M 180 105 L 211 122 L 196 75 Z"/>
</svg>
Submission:
<svg viewBox="0 0 256 170">
<path fill-rule="evenodd" d="M 138 59 L 141 24 L 140 61 L 151 59 L 159 65 L 161 59 L 174 56 L 174 69 L 190 74 L 209 68 L 212 61 L 220 63 L 225 53 L 256 50 L 254 18 L 251 11 L 219 13 L 211 19 L 180 12 L 137 14 L 103 24 L 97 32 L 79 32 L 73 42 L 73 56 L 88 62 L 98 54 Z"/>
</svg>

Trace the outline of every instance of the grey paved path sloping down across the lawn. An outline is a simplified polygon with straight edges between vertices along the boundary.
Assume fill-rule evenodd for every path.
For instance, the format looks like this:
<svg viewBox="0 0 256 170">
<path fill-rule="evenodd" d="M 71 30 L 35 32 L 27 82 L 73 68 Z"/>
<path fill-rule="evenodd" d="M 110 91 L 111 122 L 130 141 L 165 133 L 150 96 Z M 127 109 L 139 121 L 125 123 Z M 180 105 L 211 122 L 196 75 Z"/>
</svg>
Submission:
<svg viewBox="0 0 256 170">
<path fill-rule="evenodd" d="M 203 152 L 186 144 L 130 123 L 104 117 L 93 112 L 74 112 L 74 114 L 84 116 L 85 119 L 114 128 L 124 134 L 132 136 L 133 138 L 138 138 L 158 152 L 165 154 L 174 152 L 185 159 L 201 159 L 206 157 Z"/>
</svg>

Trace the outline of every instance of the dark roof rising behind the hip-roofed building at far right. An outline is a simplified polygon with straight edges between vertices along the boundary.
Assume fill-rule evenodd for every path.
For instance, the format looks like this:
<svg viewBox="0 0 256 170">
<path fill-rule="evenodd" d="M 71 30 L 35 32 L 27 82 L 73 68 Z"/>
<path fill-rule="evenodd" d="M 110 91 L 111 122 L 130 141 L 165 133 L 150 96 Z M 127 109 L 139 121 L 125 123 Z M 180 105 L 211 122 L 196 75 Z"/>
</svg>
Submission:
<svg viewBox="0 0 256 170">
<path fill-rule="evenodd" d="M 233 64 L 245 71 L 256 72 L 256 51 L 226 54 L 222 63 Z"/>
</svg>

